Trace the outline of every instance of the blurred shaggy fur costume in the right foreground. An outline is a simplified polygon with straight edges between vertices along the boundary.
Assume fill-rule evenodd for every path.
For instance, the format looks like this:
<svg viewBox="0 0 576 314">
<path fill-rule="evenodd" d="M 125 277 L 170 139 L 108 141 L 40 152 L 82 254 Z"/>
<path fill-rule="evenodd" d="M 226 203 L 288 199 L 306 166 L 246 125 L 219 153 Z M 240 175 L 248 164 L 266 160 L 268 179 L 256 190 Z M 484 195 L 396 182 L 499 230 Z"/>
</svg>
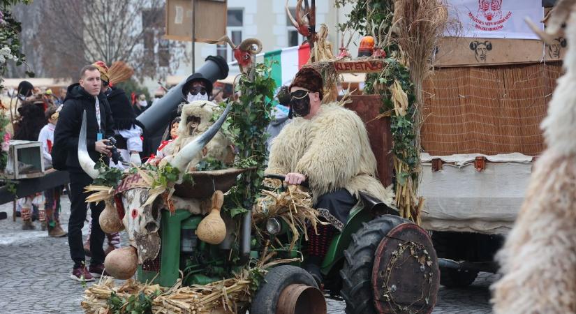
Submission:
<svg viewBox="0 0 576 314">
<path fill-rule="evenodd" d="M 566 37 L 576 43 L 572 9 Z M 515 226 L 498 255 L 503 277 L 492 286 L 495 313 L 576 313 L 574 45 L 568 45 L 564 66 L 566 74 L 558 80 L 542 121 L 547 149 L 536 163 Z"/>
</svg>

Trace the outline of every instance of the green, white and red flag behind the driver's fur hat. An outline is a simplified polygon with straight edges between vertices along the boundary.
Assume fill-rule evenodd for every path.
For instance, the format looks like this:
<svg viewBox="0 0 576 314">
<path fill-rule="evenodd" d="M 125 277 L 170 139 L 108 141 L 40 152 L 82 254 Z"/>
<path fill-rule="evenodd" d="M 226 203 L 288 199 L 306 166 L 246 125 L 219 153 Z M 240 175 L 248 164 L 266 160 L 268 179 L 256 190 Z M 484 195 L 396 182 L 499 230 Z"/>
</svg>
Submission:
<svg viewBox="0 0 576 314">
<path fill-rule="evenodd" d="M 276 87 L 281 87 L 291 82 L 302 66 L 310 58 L 310 46 L 304 43 L 300 46 L 274 50 L 264 54 L 266 64 L 272 62 L 272 78 Z"/>
</svg>

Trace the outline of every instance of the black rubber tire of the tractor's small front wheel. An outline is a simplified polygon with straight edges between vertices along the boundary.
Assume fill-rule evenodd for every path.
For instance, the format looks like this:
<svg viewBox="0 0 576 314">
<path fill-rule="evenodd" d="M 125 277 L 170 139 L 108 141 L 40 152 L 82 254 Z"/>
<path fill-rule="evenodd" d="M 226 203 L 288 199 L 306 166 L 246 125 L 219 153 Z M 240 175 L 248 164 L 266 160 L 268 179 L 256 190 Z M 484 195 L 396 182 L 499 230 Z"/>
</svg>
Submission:
<svg viewBox="0 0 576 314">
<path fill-rule="evenodd" d="M 276 314 L 276 305 L 282 290 L 294 283 L 318 288 L 312 275 L 300 267 L 282 265 L 271 269 L 252 299 L 250 314 Z"/>
</svg>

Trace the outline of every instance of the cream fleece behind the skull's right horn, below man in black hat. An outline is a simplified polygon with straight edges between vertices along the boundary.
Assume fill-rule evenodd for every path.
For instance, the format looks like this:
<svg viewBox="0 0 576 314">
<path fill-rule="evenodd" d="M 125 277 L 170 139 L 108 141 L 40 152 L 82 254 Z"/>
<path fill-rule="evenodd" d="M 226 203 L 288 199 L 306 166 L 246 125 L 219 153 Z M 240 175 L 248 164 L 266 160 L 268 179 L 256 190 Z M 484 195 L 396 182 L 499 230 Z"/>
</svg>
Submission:
<svg viewBox="0 0 576 314">
<path fill-rule="evenodd" d="M 198 135 L 202 135 L 202 133 L 212 126 L 212 124 L 214 124 L 212 116 L 214 115 L 214 108 L 216 107 L 216 104 L 205 100 L 193 101 L 192 103 L 184 105 L 182 107 L 182 114 L 180 115 L 181 120 L 178 125 L 178 137 L 165 147 L 165 155 L 176 154 L 182 147 L 193 141 Z M 191 123 L 186 122 L 188 117 L 200 118 L 200 124 L 198 124 L 195 129 L 192 129 Z M 195 167 L 195 165 L 205 157 L 212 157 L 226 163 L 234 161 L 232 142 L 219 131 L 212 137 L 212 140 L 206 144 L 205 149 L 202 149 L 197 156 L 192 158 L 189 163 L 189 168 Z"/>
</svg>

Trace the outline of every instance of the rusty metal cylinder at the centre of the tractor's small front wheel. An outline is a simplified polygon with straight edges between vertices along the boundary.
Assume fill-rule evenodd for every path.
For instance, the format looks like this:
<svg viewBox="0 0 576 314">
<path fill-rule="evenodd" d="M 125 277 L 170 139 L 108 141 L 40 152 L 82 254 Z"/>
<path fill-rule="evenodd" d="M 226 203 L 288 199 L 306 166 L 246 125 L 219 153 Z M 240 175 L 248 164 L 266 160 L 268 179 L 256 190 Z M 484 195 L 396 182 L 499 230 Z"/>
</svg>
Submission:
<svg viewBox="0 0 576 314">
<path fill-rule="evenodd" d="M 278 298 L 276 314 L 326 314 L 326 299 L 317 287 L 288 285 Z"/>
</svg>

